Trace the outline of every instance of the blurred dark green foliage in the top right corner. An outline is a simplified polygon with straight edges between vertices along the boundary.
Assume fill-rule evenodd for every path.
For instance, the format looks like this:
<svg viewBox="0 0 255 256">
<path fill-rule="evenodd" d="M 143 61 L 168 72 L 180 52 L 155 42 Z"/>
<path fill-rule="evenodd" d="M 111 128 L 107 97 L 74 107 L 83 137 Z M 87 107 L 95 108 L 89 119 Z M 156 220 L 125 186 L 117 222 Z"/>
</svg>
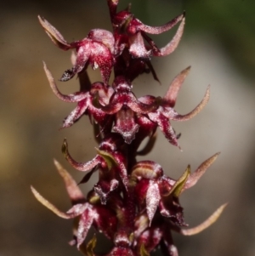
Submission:
<svg viewBox="0 0 255 256">
<path fill-rule="evenodd" d="M 205 32 L 214 37 L 247 77 L 255 77 L 255 1 L 184 0 L 183 7 L 188 35 Z"/>
</svg>

